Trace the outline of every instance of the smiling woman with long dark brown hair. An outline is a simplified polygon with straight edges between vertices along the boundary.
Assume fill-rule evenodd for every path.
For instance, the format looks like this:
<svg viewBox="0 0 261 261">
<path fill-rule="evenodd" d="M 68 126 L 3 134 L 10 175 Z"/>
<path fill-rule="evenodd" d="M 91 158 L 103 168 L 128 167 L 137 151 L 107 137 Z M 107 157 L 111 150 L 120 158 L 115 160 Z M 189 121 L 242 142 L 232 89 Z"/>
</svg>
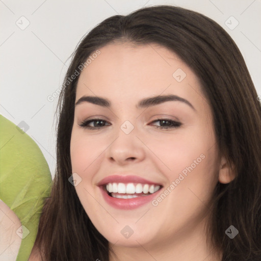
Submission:
<svg viewBox="0 0 261 261">
<path fill-rule="evenodd" d="M 77 46 L 58 112 L 32 257 L 261 260 L 261 109 L 216 22 L 172 6 L 106 19 Z"/>
</svg>

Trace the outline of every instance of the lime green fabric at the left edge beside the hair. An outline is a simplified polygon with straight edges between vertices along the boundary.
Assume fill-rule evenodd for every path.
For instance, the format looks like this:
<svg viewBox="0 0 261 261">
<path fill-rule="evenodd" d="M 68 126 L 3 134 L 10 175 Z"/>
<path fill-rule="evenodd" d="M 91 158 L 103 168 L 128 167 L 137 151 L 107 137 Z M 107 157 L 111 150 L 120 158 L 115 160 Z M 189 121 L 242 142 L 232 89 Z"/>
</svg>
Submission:
<svg viewBox="0 0 261 261">
<path fill-rule="evenodd" d="M 32 252 L 51 182 L 48 164 L 35 141 L 0 115 L 0 199 L 29 230 L 21 240 L 18 261 L 28 260 Z"/>
</svg>

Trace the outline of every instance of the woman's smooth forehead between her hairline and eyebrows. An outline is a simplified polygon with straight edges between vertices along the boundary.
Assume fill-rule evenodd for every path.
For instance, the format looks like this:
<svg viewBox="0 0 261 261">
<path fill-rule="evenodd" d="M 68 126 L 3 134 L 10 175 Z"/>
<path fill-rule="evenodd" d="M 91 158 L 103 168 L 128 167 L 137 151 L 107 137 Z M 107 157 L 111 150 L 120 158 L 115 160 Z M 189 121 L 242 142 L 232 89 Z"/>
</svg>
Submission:
<svg viewBox="0 0 261 261">
<path fill-rule="evenodd" d="M 195 92 L 188 84 L 199 91 L 197 76 L 164 46 L 112 43 L 99 51 L 80 74 L 76 99 L 86 94 L 138 98 L 164 90 L 186 96 L 188 90 Z"/>
</svg>

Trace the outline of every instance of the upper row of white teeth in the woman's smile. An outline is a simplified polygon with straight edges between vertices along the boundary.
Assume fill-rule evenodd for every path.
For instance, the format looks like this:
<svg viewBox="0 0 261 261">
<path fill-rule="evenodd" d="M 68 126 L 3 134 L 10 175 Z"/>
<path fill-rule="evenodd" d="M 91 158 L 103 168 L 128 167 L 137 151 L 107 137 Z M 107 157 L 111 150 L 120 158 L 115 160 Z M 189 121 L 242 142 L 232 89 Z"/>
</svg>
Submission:
<svg viewBox="0 0 261 261">
<path fill-rule="evenodd" d="M 109 193 L 126 193 L 126 194 L 134 194 L 134 193 L 154 193 L 160 189 L 159 185 L 148 185 L 138 183 L 136 186 L 133 183 L 109 183 L 106 185 L 106 189 Z"/>
</svg>

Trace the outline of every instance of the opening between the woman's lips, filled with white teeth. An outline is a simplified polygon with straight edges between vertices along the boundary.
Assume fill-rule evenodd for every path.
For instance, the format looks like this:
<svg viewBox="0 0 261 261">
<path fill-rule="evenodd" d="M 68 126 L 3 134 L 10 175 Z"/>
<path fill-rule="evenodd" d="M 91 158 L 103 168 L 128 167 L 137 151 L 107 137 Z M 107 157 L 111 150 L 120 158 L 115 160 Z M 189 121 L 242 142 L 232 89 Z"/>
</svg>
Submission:
<svg viewBox="0 0 261 261">
<path fill-rule="evenodd" d="M 113 182 L 103 185 L 103 190 L 111 197 L 128 199 L 149 196 L 159 191 L 162 187 L 161 185 Z"/>
</svg>

